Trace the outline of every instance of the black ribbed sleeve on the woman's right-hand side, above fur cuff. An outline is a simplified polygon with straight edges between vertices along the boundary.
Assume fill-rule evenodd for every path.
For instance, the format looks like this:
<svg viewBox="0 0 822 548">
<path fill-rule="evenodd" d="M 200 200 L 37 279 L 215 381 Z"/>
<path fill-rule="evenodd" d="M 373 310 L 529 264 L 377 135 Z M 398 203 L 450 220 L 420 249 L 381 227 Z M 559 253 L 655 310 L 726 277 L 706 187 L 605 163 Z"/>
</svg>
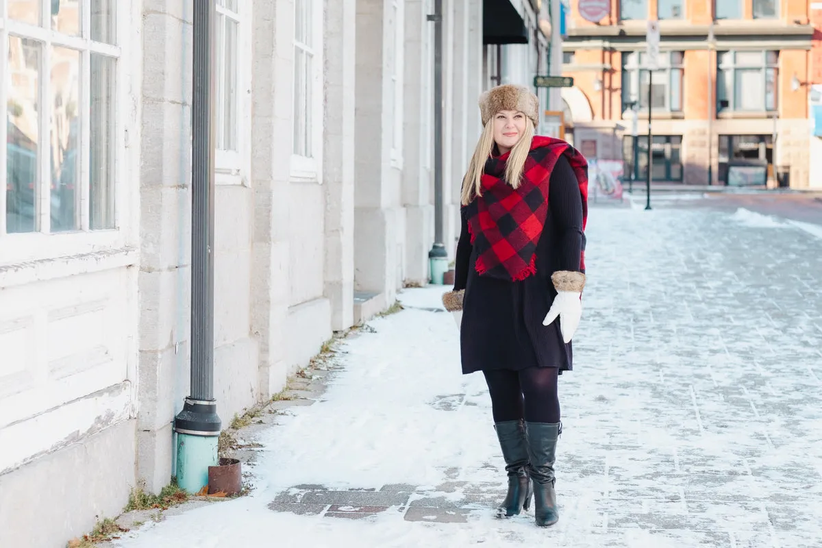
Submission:
<svg viewBox="0 0 822 548">
<path fill-rule="evenodd" d="M 551 173 L 548 207 L 557 234 L 554 251 L 556 269 L 584 272 L 580 269 L 585 238 L 582 231 L 582 195 L 574 169 L 565 156 L 560 157 Z"/>
</svg>

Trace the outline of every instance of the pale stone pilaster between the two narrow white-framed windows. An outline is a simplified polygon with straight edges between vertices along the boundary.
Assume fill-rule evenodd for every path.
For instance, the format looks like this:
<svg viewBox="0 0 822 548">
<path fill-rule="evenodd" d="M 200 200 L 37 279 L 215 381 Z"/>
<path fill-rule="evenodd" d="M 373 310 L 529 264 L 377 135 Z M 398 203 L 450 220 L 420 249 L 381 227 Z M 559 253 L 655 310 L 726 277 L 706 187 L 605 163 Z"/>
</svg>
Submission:
<svg viewBox="0 0 822 548">
<path fill-rule="evenodd" d="M 285 385 L 289 311 L 289 165 L 293 145 L 293 4 L 253 0 L 252 334 L 260 398 Z"/>
</svg>

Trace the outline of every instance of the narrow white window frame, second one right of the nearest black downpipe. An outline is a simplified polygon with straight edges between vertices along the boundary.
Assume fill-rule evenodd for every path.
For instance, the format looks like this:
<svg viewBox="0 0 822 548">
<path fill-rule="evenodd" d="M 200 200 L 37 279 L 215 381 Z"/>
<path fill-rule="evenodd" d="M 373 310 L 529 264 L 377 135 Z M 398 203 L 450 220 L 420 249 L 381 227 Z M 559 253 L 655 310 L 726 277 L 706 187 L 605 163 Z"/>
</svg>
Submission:
<svg viewBox="0 0 822 548">
<path fill-rule="evenodd" d="M 289 175 L 293 181 L 297 182 L 316 182 L 322 183 L 322 132 L 323 132 L 323 28 L 322 18 L 324 10 L 324 2 L 322 0 L 302 0 L 310 4 L 309 14 L 311 17 L 312 27 L 312 44 L 302 44 L 297 41 L 296 26 L 297 26 L 297 6 L 294 5 L 293 21 L 291 28 L 294 32 L 292 40 L 291 55 L 294 55 L 294 48 L 301 48 L 312 55 L 312 78 L 311 78 L 311 123 L 307 127 L 307 131 L 311 132 L 312 155 L 303 156 L 302 154 L 294 154 L 293 143 L 291 146 L 291 165 Z M 293 58 L 293 63 L 296 64 L 297 59 Z M 291 72 L 293 78 L 294 71 Z M 292 94 L 297 94 L 297 80 L 293 78 Z M 292 105 L 294 101 L 292 100 Z M 293 106 L 292 106 L 293 111 Z M 297 113 L 292 114 L 292 128 L 291 139 L 294 135 L 294 125 L 297 124 Z M 291 142 L 291 140 L 289 140 Z"/>
</svg>

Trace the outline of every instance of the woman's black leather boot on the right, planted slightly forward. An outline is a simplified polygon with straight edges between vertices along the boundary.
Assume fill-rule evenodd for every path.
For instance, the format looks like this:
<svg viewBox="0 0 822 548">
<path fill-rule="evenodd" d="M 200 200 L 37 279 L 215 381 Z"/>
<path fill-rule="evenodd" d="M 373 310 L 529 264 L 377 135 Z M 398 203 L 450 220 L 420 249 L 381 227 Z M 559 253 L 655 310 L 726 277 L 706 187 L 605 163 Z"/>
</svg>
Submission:
<svg viewBox="0 0 822 548">
<path fill-rule="evenodd" d="M 539 527 L 549 527 L 560 519 L 556 508 L 554 462 L 556 439 L 561 434 L 559 422 L 526 422 L 525 438 L 528 440 L 529 473 L 533 479 L 533 515 Z"/>
</svg>

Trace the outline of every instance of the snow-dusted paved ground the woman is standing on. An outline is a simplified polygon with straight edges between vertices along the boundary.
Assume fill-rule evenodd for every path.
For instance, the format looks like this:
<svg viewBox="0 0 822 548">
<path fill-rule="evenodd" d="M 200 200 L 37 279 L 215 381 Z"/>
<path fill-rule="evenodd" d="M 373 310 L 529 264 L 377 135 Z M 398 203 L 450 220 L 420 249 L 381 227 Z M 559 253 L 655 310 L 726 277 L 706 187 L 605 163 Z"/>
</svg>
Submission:
<svg viewBox="0 0 822 548">
<path fill-rule="evenodd" d="M 114 546 L 822 546 L 822 240 L 664 208 L 593 208 L 588 239 L 555 527 L 493 517 L 487 389 L 423 288 L 261 435 L 252 495 Z"/>
</svg>

